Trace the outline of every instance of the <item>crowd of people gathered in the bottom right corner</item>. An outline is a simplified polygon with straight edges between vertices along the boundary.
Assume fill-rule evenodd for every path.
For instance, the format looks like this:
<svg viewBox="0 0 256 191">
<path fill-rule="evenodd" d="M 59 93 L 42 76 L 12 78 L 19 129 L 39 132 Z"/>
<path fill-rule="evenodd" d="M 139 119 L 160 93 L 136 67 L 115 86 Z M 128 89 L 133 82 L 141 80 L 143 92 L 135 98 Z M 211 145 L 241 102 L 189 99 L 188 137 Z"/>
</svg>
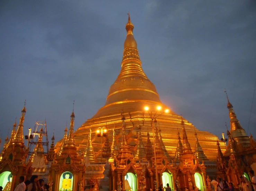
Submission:
<svg viewBox="0 0 256 191">
<path fill-rule="evenodd" d="M 256 176 L 254 175 L 254 171 L 250 170 L 249 175 L 251 177 L 251 181 L 249 181 L 246 177 L 240 177 L 240 185 L 239 189 L 241 191 L 256 191 Z M 234 191 L 235 188 L 232 182 L 227 183 L 226 180 L 221 180 L 218 178 L 217 184 L 218 191 Z"/>
</svg>

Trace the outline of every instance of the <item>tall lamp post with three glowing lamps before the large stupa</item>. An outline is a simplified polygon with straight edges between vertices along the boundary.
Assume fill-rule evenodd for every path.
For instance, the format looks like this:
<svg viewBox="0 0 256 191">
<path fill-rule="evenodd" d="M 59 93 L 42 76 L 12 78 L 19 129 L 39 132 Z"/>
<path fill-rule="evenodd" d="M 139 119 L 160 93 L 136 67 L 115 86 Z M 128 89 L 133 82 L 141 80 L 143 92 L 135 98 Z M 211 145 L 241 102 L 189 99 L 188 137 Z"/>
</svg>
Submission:
<svg viewBox="0 0 256 191">
<path fill-rule="evenodd" d="M 157 111 L 155 114 L 150 114 L 149 113 L 149 107 L 145 107 L 144 110 L 147 111 L 149 113 L 149 116 L 151 118 L 151 127 L 152 127 L 152 132 L 153 132 L 153 144 L 154 144 L 154 155 L 155 155 L 155 165 L 156 165 L 156 179 L 157 179 L 157 188 L 158 188 L 158 173 L 157 173 L 157 157 L 156 157 L 156 142 L 155 142 L 155 129 L 153 127 L 153 122 L 156 122 L 156 119 L 163 113 L 168 113 L 169 109 L 166 109 L 164 112 L 162 112 L 161 114 L 157 115 L 158 111 L 161 111 L 162 107 L 161 106 L 157 106 Z M 156 126 L 156 125 L 155 125 Z M 156 128 L 156 127 L 155 127 Z"/>
</svg>

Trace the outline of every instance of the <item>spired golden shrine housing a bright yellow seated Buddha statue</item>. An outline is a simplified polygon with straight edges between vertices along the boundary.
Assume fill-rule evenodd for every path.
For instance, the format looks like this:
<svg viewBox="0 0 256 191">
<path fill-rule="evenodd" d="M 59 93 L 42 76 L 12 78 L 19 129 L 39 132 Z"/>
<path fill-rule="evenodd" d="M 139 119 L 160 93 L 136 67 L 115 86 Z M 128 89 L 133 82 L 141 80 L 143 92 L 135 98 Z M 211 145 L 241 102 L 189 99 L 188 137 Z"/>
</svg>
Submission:
<svg viewBox="0 0 256 191">
<path fill-rule="evenodd" d="M 54 153 L 53 142 L 48 153 L 50 161 L 49 180 L 53 179 L 54 191 L 77 191 L 84 190 L 85 165 L 82 164 L 82 155 L 78 156 L 74 141 L 74 110 L 70 116 L 70 128 L 67 140 L 63 145 L 60 155 Z M 54 141 L 54 137 L 52 138 Z"/>
</svg>

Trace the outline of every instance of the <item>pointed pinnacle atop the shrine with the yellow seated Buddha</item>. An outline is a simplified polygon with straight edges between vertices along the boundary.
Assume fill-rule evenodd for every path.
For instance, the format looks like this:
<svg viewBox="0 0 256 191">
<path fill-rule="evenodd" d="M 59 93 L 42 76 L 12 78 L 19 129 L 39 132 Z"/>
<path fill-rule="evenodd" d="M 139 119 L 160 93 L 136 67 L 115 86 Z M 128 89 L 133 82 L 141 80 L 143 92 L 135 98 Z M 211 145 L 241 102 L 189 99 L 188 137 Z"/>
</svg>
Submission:
<svg viewBox="0 0 256 191">
<path fill-rule="evenodd" d="M 73 109 L 73 111 L 70 115 L 69 135 L 68 135 L 67 141 L 65 142 L 65 145 L 63 147 L 63 153 L 68 154 L 70 152 L 72 155 L 77 156 L 77 148 L 76 148 L 76 143 L 74 140 L 74 118 L 75 118 L 75 114 L 74 114 L 74 109 Z"/>
</svg>

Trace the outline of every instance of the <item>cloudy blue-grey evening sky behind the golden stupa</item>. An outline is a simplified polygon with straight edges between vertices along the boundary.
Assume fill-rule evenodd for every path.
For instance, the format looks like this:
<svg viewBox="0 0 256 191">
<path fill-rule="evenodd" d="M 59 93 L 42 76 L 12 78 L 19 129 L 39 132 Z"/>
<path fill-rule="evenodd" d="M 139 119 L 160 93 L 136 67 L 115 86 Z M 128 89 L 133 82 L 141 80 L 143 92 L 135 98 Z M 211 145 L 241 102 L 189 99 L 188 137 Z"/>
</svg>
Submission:
<svg viewBox="0 0 256 191">
<path fill-rule="evenodd" d="M 255 1 L 2 0 L 2 145 L 25 99 L 24 134 L 46 118 L 49 139 L 55 130 L 56 140 L 73 100 L 74 129 L 105 104 L 121 69 L 128 11 L 142 68 L 161 101 L 221 138 L 229 125 L 226 88 L 247 131 L 256 80 Z M 256 100 L 248 131 L 254 137 L 255 127 Z"/>
</svg>

